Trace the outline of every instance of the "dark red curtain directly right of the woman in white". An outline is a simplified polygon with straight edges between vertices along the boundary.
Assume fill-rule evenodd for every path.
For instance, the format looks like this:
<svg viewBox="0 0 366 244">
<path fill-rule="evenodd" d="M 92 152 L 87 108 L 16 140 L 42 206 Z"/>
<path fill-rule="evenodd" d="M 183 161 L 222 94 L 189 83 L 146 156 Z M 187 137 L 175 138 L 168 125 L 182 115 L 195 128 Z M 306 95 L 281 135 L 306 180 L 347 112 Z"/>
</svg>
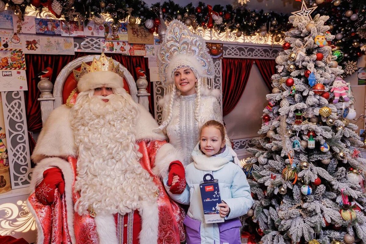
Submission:
<svg viewBox="0 0 366 244">
<path fill-rule="evenodd" d="M 253 59 L 223 58 L 223 116 L 238 104 L 247 85 Z"/>
</svg>

